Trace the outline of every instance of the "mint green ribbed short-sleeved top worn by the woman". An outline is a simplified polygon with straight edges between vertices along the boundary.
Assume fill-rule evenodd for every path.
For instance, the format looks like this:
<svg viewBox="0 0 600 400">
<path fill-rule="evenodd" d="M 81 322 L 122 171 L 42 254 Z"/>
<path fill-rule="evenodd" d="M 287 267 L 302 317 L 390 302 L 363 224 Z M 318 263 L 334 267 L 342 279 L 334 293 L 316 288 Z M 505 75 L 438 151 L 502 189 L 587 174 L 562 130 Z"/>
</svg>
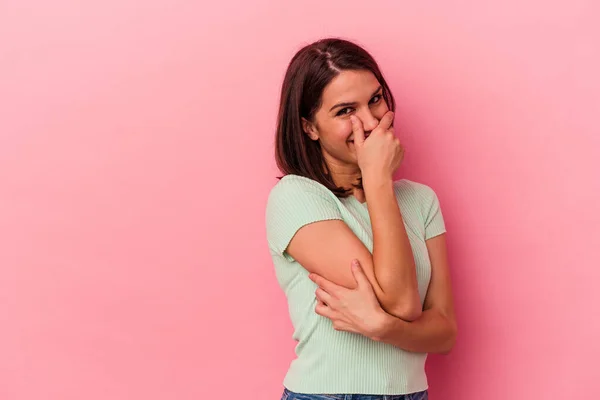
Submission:
<svg viewBox="0 0 600 400">
<path fill-rule="evenodd" d="M 425 241 L 444 233 L 435 192 L 406 179 L 394 182 L 398 204 L 413 249 L 419 295 L 425 299 L 431 264 Z M 338 199 L 320 183 L 297 175 L 283 177 L 271 190 L 266 209 L 269 249 L 279 285 L 286 294 L 296 358 L 283 382 L 297 393 L 408 394 L 427 389 L 426 354 L 406 352 L 364 336 L 333 329 L 317 315 L 316 285 L 285 251 L 306 224 L 339 219 L 373 252 L 367 205 L 355 197 Z"/>
</svg>

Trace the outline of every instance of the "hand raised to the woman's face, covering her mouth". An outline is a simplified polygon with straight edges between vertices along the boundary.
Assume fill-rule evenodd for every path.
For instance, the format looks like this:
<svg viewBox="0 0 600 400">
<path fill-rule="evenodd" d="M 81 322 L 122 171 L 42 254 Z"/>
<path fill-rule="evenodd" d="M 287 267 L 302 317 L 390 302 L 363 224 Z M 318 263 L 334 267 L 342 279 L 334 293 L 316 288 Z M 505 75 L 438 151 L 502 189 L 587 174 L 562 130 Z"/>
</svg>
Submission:
<svg viewBox="0 0 600 400">
<path fill-rule="evenodd" d="M 363 180 L 392 179 L 404 158 L 404 146 L 394 136 L 394 113 L 388 111 L 379 125 L 365 139 L 362 121 L 355 115 L 350 116 L 354 132 L 354 148 Z"/>
</svg>

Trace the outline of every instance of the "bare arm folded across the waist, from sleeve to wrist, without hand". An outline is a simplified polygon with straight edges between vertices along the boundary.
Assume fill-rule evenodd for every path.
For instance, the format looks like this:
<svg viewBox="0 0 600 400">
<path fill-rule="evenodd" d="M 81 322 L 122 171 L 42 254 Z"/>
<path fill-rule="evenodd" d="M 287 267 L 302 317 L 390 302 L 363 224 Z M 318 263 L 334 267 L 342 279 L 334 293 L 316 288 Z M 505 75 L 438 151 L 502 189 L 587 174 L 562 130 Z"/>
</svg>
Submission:
<svg viewBox="0 0 600 400">
<path fill-rule="evenodd" d="M 431 282 L 420 318 L 406 322 L 386 315 L 373 339 L 419 353 L 450 352 L 456 340 L 456 318 L 452 300 L 446 235 L 427 241 L 431 259 Z"/>
</svg>

